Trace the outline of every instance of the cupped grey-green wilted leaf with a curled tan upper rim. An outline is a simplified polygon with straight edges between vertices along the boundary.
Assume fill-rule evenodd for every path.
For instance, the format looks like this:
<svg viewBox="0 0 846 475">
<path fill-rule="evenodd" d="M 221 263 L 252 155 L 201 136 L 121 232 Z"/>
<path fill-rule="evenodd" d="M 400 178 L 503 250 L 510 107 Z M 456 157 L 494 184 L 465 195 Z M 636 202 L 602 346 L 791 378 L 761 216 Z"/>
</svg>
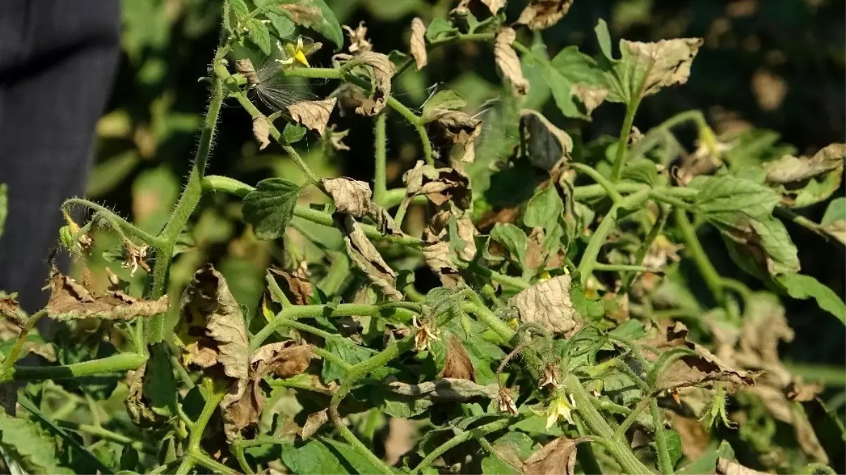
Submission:
<svg viewBox="0 0 846 475">
<path fill-rule="evenodd" d="M 551 171 L 560 161 L 570 161 L 573 139 L 540 112 L 520 111 L 520 122 L 528 134 L 529 159 L 535 167 Z"/>
</svg>

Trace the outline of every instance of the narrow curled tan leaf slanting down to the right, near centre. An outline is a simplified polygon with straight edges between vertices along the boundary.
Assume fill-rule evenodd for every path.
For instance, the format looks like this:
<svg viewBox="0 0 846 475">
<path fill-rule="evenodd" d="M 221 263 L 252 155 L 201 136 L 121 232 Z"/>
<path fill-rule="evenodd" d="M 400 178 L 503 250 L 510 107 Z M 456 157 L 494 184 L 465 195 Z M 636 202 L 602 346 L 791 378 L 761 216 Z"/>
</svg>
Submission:
<svg viewBox="0 0 846 475">
<path fill-rule="evenodd" d="M 382 255 L 367 239 L 361 225 L 352 217 L 346 216 L 343 221 L 343 241 L 346 243 L 347 254 L 360 270 L 364 271 L 370 281 L 379 288 L 383 295 L 392 300 L 402 300 L 403 294 L 397 290 L 397 274 L 382 259 Z"/>
</svg>

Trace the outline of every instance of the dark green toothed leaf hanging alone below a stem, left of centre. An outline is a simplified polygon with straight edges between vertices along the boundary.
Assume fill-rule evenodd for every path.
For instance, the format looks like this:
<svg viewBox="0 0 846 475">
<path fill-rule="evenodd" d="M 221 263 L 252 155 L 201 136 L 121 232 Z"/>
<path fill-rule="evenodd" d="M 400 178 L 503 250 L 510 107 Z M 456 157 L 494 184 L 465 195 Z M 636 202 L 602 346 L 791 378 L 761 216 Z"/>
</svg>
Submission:
<svg viewBox="0 0 846 475">
<path fill-rule="evenodd" d="M 244 197 L 244 221 L 255 228 L 255 237 L 276 239 L 285 233 L 294 216 L 299 186 L 282 178 L 261 180 Z"/>
</svg>

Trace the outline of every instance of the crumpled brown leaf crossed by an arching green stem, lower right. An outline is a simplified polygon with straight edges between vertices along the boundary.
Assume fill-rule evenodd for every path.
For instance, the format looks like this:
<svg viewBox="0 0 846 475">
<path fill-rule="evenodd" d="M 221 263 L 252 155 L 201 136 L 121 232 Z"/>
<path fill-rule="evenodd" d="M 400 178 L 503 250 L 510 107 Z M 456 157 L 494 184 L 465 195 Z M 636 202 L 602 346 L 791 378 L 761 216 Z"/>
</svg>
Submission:
<svg viewBox="0 0 846 475">
<path fill-rule="evenodd" d="M 752 384 L 749 372 L 741 369 L 729 368 L 720 358 L 709 352 L 705 347 L 687 340 L 688 329 L 684 324 L 676 322 L 674 325 L 658 329 L 658 335 L 641 339 L 644 356 L 657 361 L 662 353 L 683 348 L 695 352 L 695 356 L 686 355 L 676 359 L 658 374 L 657 390 L 675 390 L 678 388 L 711 385 L 720 381 L 729 386 L 743 386 Z M 652 350 L 654 348 L 654 351 Z"/>
</svg>

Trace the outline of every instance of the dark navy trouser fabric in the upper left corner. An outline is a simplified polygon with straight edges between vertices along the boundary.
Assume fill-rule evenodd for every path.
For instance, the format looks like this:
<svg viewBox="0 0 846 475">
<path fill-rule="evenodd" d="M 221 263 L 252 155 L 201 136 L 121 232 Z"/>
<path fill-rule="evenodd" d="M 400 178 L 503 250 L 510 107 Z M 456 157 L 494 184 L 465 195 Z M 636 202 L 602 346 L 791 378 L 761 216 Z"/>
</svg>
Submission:
<svg viewBox="0 0 846 475">
<path fill-rule="evenodd" d="M 80 195 L 119 57 L 117 0 L 0 0 L 0 290 L 40 308 L 59 206 Z"/>
</svg>

